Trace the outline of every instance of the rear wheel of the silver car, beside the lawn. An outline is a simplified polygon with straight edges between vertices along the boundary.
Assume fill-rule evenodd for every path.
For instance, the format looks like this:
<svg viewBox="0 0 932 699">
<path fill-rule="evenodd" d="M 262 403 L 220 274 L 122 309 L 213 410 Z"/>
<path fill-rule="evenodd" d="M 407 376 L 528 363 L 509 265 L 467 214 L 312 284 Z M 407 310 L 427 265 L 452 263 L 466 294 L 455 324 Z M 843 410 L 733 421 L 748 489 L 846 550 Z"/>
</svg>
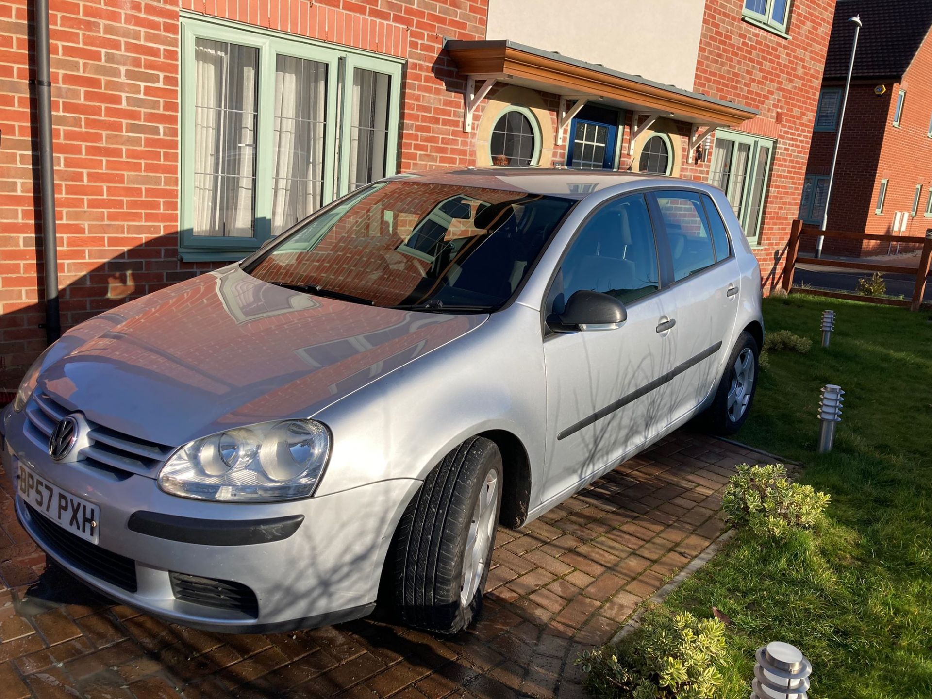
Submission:
<svg viewBox="0 0 932 699">
<path fill-rule="evenodd" d="M 706 418 L 712 432 L 734 434 L 745 424 L 754 402 L 754 393 L 757 391 L 760 353 L 761 349 L 754 336 L 747 332 L 738 336 L 728 363 L 725 364 L 725 372 L 715 392 L 715 398 L 706 410 Z M 749 363 L 746 368 L 745 360 Z M 743 409 L 738 414 L 742 404 Z"/>
</svg>

